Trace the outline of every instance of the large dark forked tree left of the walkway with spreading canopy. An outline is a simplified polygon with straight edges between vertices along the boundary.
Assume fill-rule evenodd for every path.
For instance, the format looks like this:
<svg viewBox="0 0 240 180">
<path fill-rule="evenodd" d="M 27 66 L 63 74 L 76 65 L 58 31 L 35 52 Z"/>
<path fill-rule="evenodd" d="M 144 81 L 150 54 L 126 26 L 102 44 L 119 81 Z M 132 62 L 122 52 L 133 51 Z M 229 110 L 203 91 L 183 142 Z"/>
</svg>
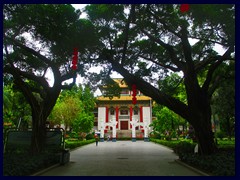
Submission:
<svg viewBox="0 0 240 180">
<path fill-rule="evenodd" d="M 83 62 L 76 71 L 71 69 L 74 48 L 84 54 L 95 40 L 93 26 L 79 15 L 64 4 L 4 5 L 4 80 L 12 79 L 31 106 L 33 153 L 44 147 L 46 119 L 59 93 L 75 84 L 77 72 L 87 69 Z M 53 74 L 53 85 L 47 72 Z M 68 79 L 72 83 L 63 84 Z"/>
</svg>

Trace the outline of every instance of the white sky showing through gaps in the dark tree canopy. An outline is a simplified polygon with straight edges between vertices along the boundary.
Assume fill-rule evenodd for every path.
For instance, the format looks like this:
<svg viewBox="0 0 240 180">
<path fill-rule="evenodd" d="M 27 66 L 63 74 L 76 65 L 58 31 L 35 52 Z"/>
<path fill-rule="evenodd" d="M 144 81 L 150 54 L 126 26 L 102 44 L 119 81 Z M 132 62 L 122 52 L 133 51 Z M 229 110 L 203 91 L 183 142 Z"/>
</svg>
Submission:
<svg viewBox="0 0 240 180">
<path fill-rule="evenodd" d="M 71 4 L 75 9 L 80 9 L 82 11 L 82 8 L 84 8 L 87 4 Z M 80 18 L 86 18 L 86 13 L 82 13 Z M 193 39 L 189 39 L 190 41 L 190 44 L 195 44 L 197 41 L 196 40 L 193 40 Z M 215 51 L 217 51 L 220 55 L 222 55 L 226 50 L 224 50 L 222 48 L 222 46 L 220 45 L 215 45 L 215 47 L 213 48 Z M 90 69 L 90 71 L 94 71 L 94 72 L 99 72 L 101 69 L 101 67 L 99 68 L 92 68 Z M 54 79 L 53 79 L 53 74 L 48 71 L 47 73 L 47 77 L 49 77 L 49 84 L 52 86 L 53 85 L 53 82 L 54 82 Z M 112 75 L 111 75 L 112 78 L 122 78 L 122 76 L 120 74 L 118 74 L 117 72 L 113 72 Z M 66 82 L 69 82 L 71 83 L 72 82 L 72 79 L 66 81 Z M 76 84 L 82 84 L 83 82 L 83 78 L 80 77 L 79 75 L 77 76 L 77 80 L 76 80 Z M 94 96 L 99 96 L 101 95 L 101 92 L 100 90 L 97 90 L 95 93 L 94 93 Z"/>
</svg>

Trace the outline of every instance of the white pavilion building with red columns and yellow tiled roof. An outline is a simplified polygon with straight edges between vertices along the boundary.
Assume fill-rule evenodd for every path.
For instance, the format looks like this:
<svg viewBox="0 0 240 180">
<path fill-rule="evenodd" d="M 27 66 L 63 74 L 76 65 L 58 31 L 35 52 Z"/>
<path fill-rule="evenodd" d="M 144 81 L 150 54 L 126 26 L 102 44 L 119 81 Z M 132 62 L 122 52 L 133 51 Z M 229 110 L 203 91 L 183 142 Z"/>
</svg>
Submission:
<svg viewBox="0 0 240 180">
<path fill-rule="evenodd" d="M 152 122 L 152 99 L 137 91 L 137 103 L 132 103 L 132 91 L 122 79 L 113 79 L 121 88 L 120 97 L 97 97 L 94 129 L 100 132 L 100 140 L 110 136 L 118 138 L 144 138 L 148 141 L 149 124 Z"/>
</svg>

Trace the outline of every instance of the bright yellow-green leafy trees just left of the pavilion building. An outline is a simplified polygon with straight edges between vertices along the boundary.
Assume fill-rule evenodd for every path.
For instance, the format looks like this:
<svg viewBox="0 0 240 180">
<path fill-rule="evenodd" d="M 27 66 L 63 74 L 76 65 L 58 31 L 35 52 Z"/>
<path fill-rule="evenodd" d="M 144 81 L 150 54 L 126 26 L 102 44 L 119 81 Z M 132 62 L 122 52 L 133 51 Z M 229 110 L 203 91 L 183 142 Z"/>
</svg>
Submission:
<svg viewBox="0 0 240 180">
<path fill-rule="evenodd" d="M 88 133 L 93 127 L 95 98 L 89 87 L 79 85 L 63 90 L 49 117 L 54 124 L 64 123 L 75 133 Z"/>
</svg>

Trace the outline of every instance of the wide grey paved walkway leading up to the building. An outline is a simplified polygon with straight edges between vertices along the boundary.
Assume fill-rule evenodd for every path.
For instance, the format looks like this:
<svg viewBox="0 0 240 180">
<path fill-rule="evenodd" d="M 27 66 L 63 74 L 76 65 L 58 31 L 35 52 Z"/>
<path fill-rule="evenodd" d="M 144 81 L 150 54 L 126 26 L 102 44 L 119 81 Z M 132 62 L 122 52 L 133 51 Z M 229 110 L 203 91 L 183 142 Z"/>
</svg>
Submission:
<svg viewBox="0 0 240 180">
<path fill-rule="evenodd" d="M 172 150 L 153 142 L 99 142 L 70 152 L 70 162 L 39 176 L 201 176 L 177 163 Z"/>
</svg>

